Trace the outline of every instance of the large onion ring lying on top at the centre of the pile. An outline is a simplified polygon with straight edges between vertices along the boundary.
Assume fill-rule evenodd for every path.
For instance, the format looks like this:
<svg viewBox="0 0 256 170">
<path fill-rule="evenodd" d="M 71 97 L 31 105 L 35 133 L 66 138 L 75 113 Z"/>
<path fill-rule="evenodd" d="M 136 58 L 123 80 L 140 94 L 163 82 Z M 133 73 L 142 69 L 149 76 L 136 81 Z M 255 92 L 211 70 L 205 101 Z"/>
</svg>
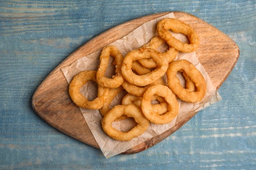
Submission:
<svg viewBox="0 0 256 170">
<path fill-rule="evenodd" d="M 145 75 L 135 75 L 131 69 L 133 61 L 150 57 L 156 61 L 158 67 Z M 168 61 L 167 59 L 161 57 L 160 52 L 151 48 L 139 48 L 138 50 L 129 52 L 125 56 L 123 59 L 123 65 L 121 67 L 121 73 L 125 80 L 127 80 L 129 83 L 135 84 L 136 86 L 147 86 L 165 75 L 167 69 Z"/>
</svg>

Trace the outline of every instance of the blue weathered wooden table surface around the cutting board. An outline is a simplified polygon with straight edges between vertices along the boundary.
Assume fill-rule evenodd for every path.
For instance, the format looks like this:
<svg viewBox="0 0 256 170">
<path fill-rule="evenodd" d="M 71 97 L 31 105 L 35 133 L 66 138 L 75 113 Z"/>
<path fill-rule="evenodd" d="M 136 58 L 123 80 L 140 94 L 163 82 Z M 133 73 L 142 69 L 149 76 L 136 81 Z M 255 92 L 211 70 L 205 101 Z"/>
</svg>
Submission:
<svg viewBox="0 0 256 170">
<path fill-rule="evenodd" d="M 31 101 L 37 86 L 79 46 L 123 22 L 165 11 L 193 14 L 240 47 L 240 58 L 219 89 L 223 100 L 152 148 L 109 159 L 35 114 Z M 255 67 L 253 0 L 2 0 L 0 169 L 255 169 Z"/>
</svg>

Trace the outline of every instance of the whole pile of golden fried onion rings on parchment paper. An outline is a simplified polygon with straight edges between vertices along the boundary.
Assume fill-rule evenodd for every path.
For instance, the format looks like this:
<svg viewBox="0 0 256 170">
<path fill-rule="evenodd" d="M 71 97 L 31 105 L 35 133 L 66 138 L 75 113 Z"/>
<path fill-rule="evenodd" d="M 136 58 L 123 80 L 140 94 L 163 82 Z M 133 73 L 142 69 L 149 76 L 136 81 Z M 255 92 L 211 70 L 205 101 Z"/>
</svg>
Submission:
<svg viewBox="0 0 256 170">
<path fill-rule="evenodd" d="M 190 43 L 175 39 L 170 31 L 182 33 Z M 82 71 L 74 76 L 69 86 L 72 101 L 78 107 L 98 109 L 102 114 L 102 129 L 112 139 L 131 141 L 142 135 L 151 123 L 167 124 L 179 114 L 179 100 L 196 103 L 202 101 L 206 93 L 206 82 L 202 73 L 187 60 L 175 60 L 179 52 L 194 52 L 199 46 L 196 31 L 181 20 L 165 18 L 156 27 L 158 36 L 148 44 L 122 56 L 114 45 L 106 46 L 100 54 L 97 71 Z M 167 50 L 159 47 L 165 44 Z M 114 58 L 115 75 L 106 77 L 106 71 Z M 185 84 L 177 76 L 181 73 Z M 167 80 L 164 81 L 163 76 Z M 98 95 L 87 99 L 79 89 L 87 82 L 96 82 Z M 112 101 L 121 92 L 119 103 Z M 133 117 L 136 126 L 128 131 L 119 131 L 112 122 Z"/>
</svg>

